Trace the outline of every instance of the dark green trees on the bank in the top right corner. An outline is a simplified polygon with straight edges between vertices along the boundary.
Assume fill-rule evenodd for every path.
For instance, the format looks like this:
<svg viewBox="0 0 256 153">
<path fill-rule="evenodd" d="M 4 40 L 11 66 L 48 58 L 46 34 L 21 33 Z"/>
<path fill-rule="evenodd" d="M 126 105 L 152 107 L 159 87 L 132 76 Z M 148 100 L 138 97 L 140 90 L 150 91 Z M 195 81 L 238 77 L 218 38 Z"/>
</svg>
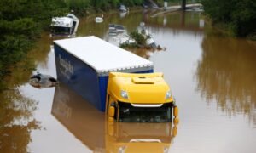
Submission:
<svg viewBox="0 0 256 153">
<path fill-rule="evenodd" d="M 213 25 L 222 25 L 236 37 L 254 35 L 256 31 L 256 1 L 201 0 Z"/>
</svg>

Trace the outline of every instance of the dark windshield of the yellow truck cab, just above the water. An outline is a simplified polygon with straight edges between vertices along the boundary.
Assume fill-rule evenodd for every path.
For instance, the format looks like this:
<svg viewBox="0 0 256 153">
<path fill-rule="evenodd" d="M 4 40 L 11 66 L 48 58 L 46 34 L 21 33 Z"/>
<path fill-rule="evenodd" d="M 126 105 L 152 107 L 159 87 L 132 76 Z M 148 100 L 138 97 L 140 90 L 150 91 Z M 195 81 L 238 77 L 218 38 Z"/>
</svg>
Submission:
<svg viewBox="0 0 256 153">
<path fill-rule="evenodd" d="M 161 107 L 133 107 L 119 102 L 119 122 L 172 122 L 172 105 Z"/>
</svg>

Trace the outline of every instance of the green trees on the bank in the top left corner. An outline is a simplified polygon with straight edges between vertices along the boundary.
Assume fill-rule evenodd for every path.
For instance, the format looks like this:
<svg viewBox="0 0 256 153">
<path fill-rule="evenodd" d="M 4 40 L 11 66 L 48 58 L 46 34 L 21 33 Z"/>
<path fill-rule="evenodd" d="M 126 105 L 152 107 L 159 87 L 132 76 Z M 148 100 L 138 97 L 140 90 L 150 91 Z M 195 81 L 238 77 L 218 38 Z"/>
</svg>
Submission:
<svg viewBox="0 0 256 153">
<path fill-rule="evenodd" d="M 26 57 L 27 51 L 50 25 L 52 16 L 67 13 L 60 0 L 1 0 L 0 1 L 0 79 Z"/>
</svg>

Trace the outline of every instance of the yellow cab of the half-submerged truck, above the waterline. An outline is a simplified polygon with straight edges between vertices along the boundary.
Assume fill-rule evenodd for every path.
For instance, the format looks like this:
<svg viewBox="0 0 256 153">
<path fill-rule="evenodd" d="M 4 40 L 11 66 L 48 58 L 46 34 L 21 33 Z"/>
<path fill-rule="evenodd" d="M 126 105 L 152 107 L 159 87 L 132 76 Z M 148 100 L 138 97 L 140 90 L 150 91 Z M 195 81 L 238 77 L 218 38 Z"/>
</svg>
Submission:
<svg viewBox="0 0 256 153">
<path fill-rule="evenodd" d="M 162 73 L 110 72 L 106 99 L 108 120 L 178 122 L 178 109 Z"/>
</svg>

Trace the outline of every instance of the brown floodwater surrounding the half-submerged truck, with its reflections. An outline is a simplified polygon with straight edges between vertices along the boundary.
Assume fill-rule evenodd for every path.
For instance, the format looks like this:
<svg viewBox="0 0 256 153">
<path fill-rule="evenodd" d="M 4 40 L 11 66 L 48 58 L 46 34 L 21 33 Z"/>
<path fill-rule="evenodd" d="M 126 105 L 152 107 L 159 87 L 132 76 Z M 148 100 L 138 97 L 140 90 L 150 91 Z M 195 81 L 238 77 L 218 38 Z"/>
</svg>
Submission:
<svg viewBox="0 0 256 153">
<path fill-rule="evenodd" d="M 164 73 L 180 109 L 178 125 L 109 123 L 62 83 L 33 88 L 28 81 L 37 71 L 56 77 L 53 38 L 44 33 L 0 94 L 0 152 L 255 152 L 255 42 L 220 35 L 201 13 L 151 17 L 156 13 L 105 14 L 102 23 L 87 17 L 77 37 L 95 35 L 119 45 L 108 24 L 131 32 L 145 22 L 166 49 L 131 52 Z"/>
</svg>

